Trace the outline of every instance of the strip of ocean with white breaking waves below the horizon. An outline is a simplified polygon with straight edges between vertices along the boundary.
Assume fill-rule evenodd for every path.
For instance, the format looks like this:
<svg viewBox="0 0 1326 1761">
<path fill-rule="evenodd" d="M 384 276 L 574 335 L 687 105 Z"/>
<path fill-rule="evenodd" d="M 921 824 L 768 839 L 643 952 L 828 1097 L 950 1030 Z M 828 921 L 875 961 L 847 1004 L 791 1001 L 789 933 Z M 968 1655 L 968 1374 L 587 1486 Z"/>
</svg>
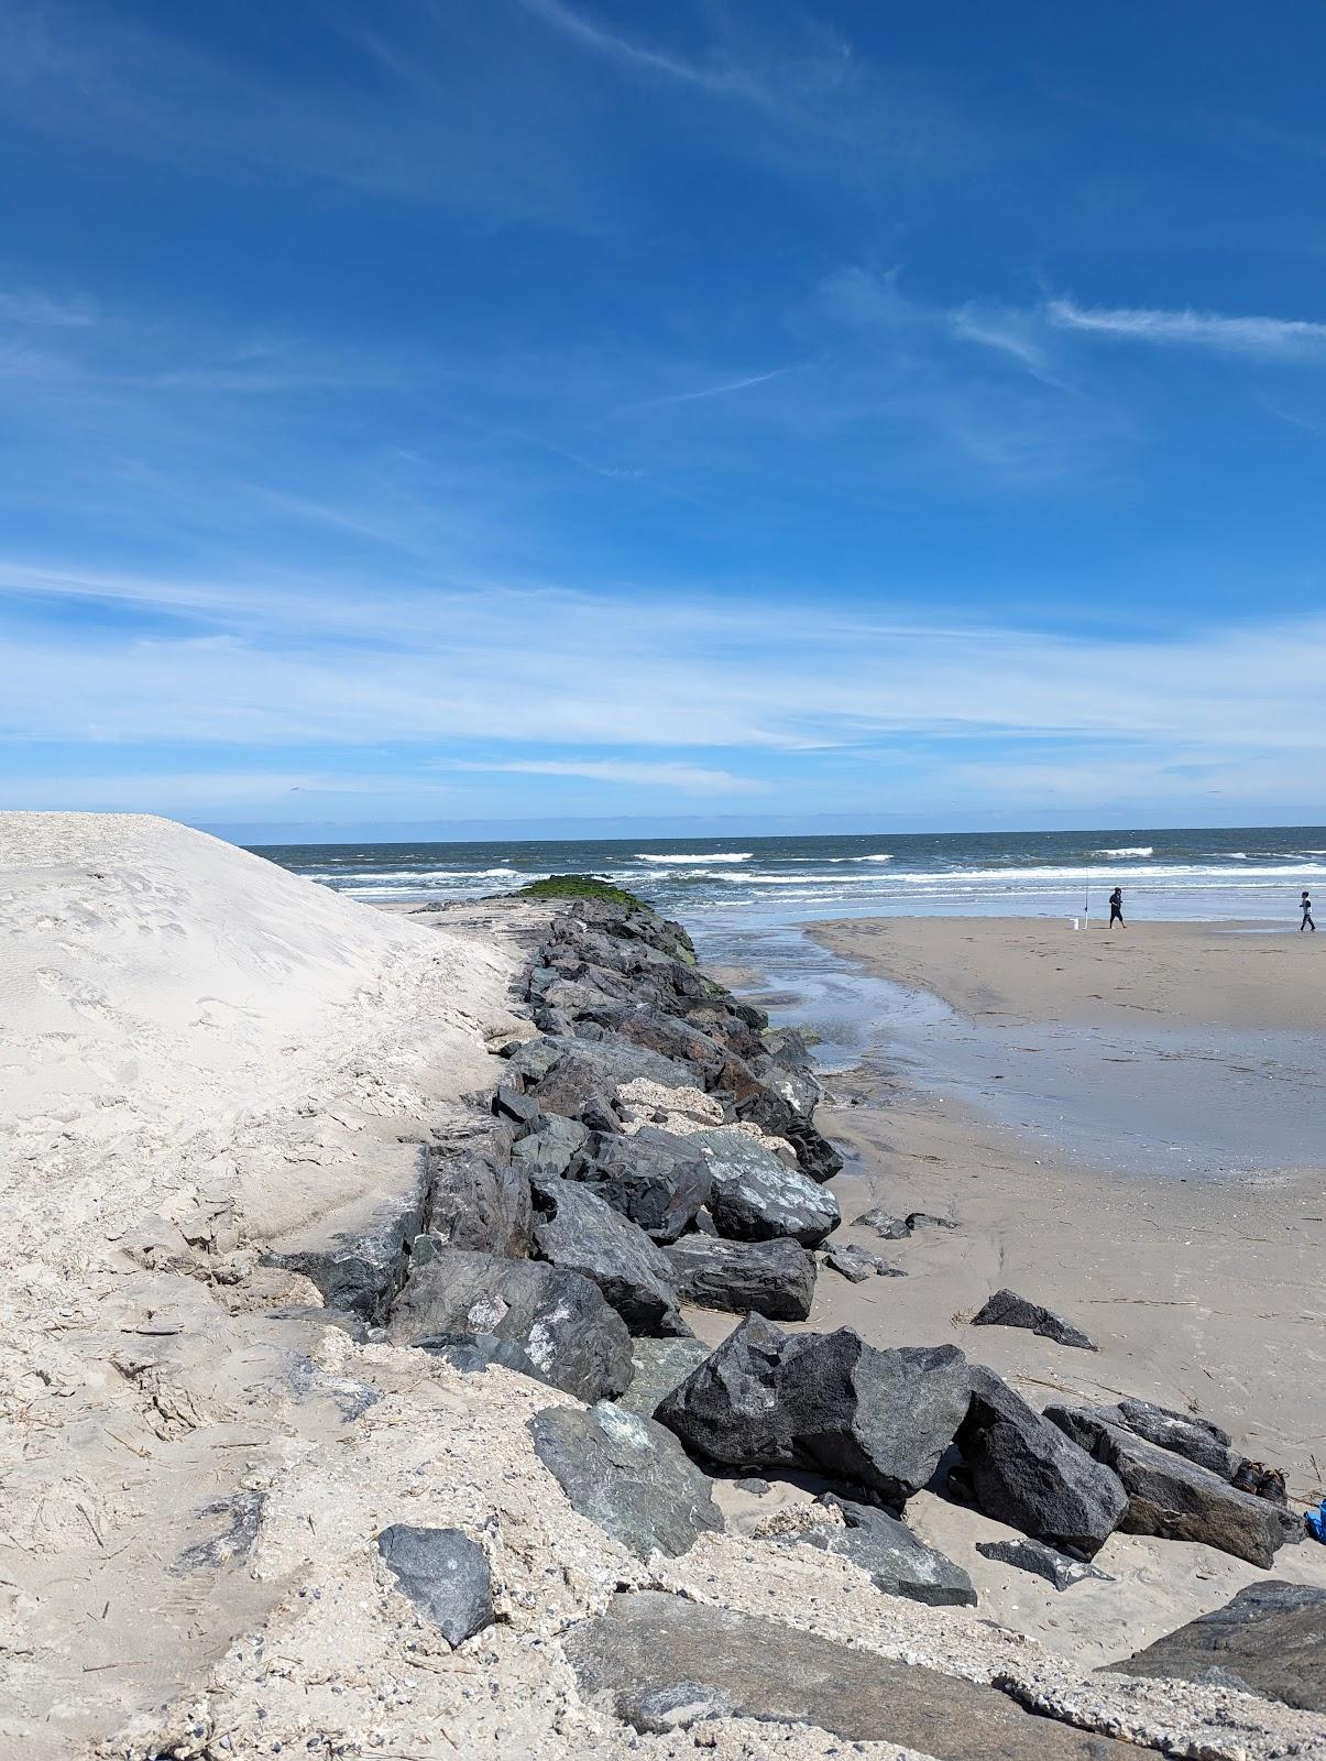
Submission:
<svg viewBox="0 0 1326 1761">
<path fill-rule="evenodd" d="M 1326 912 L 1326 826 L 620 842 L 310 844 L 262 856 L 363 900 L 467 900 L 549 873 L 630 888 L 692 933 L 877 914 L 1243 917 Z"/>
</svg>

